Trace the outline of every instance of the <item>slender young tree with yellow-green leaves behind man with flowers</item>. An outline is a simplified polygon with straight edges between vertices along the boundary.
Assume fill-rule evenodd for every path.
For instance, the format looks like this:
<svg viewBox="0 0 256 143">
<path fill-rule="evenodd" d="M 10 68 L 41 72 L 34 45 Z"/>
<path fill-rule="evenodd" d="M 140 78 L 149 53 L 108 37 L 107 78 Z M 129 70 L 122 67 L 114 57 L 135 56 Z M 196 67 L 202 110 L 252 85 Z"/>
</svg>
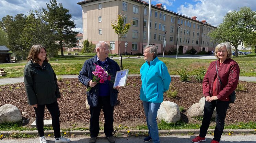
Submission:
<svg viewBox="0 0 256 143">
<path fill-rule="evenodd" d="M 125 16 L 117 15 L 117 20 L 113 20 L 111 22 L 112 28 L 115 30 L 115 33 L 118 34 L 119 57 L 121 57 L 120 43 L 122 42 L 124 35 L 128 32 L 131 26 L 131 23 L 125 24 L 124 19 L 125 19 Z M 121 65 L 121 61 L 120 61 L 120 65 Z"/>
</svg>

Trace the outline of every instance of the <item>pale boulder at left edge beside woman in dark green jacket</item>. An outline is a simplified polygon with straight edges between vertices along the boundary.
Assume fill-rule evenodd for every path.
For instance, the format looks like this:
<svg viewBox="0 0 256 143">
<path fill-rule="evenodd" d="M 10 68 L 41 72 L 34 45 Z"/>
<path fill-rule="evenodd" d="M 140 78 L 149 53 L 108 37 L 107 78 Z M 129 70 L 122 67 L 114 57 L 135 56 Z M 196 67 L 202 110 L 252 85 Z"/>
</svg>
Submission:
<svg viewBox="0 0 256 143">
<path fill-rule="evenodd" d="M 19 122 L 21 120 L 21 112 L 16 106 L 4 104 L 0 107 L 0 123 Z"/>
</svg>

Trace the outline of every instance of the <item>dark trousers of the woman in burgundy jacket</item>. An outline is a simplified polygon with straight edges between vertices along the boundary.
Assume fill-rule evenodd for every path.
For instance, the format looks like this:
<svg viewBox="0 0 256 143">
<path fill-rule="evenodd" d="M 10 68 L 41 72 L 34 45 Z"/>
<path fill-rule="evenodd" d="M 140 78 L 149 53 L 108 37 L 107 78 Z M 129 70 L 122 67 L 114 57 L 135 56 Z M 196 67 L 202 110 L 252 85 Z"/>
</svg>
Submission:
<svg viewBox="0 0 256 143">
<path fill-rule="evenodd" d="M 205 108 L 203 110 L 203 120 L 202 125 L 200 127 L 200 137 L 205 137 L 207 130 L 210 125 L 211 116 L 216 107 L 217 115 L 216 115 L 216 127 L 214 129 L 214 138 L 213 140 L 219 142 L 221 135 L 223 133 L 224 124 L 225 124 L 225 117 L 226 111 L 229 107 L 229 101 L 220 101 L 220 100 L 213 100 L 212 102 L 205 101 Z"/>
</svg>

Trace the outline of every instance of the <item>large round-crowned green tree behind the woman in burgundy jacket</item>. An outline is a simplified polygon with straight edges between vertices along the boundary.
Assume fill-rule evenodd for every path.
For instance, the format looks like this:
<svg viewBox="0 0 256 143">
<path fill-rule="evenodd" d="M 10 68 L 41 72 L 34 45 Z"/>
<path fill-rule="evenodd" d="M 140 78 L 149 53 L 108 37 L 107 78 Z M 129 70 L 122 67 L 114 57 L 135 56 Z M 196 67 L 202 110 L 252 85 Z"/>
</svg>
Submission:
<svg viewBox="0 0 256 143">
<path fill-rule="evenodd" d="M 239 11 L 234 10 L 223 17 L 223 23 L 209 33 L 214 42 L 230 42 L 235 47 L 237 57 L 237 46 L 246 41 L 256 29 L 256 12 L 251 8 L 242 7 Z"/>
</svg>

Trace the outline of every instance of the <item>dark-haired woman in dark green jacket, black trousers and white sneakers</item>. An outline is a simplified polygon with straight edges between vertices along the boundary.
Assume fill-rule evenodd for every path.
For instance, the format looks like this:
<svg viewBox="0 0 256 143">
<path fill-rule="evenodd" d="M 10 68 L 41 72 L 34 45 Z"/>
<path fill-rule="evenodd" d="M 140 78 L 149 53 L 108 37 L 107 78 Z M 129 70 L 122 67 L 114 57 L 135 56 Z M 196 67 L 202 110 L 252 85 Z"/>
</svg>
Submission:
<svg viewBox="0 0 256 143">
<path fill-rule="evenodd" d="M 33 45 L 27 61 L 24 69 L 27 102 L 35 110 L 40 143 L 47 143 L 44 136 L 45 106 L 53 120 L 55 143 L 70 142 L 70 139 L 60 136 L 60 110 L 57 102 L 60 99 L 60 91 L 54 70 L 48 63 L 45 47 L 39 44 Z"/>
</svg>

